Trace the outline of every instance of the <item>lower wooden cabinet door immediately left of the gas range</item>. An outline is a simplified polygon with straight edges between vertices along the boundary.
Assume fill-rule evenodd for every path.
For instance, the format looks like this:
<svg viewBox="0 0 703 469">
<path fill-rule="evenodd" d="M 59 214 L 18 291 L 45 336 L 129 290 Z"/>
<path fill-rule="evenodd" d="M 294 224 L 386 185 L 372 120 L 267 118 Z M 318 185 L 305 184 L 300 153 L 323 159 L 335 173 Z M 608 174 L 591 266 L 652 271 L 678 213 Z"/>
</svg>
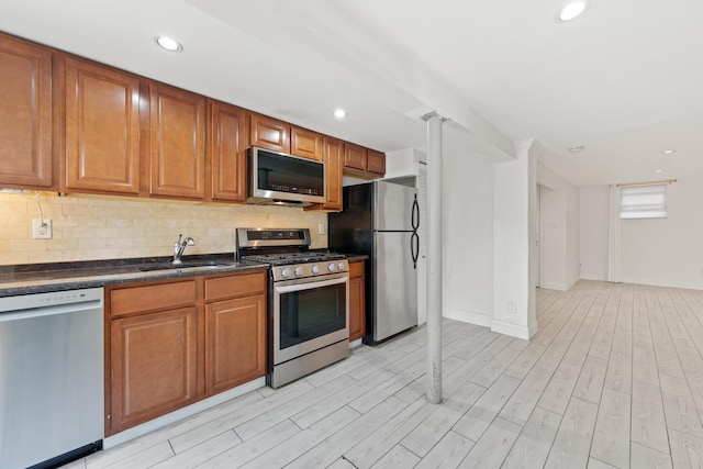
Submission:
<svg viewBox="0 0 703 469">
<path fill-rule="evenodd" d="M 222 392 L 266 375 L 266 297 L 205 305 L 205 392 Z"/>
</svg>

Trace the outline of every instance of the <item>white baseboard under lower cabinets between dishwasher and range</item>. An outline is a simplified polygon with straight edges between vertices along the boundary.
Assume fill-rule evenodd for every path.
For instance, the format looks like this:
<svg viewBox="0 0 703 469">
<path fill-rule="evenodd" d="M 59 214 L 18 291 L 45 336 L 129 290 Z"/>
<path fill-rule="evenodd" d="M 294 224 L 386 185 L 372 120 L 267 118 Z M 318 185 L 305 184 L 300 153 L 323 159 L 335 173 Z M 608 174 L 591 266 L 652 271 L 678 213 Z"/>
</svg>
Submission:
<svg viewBox="0 0 703 469">
<path fill-rule="evenodd" d="M 210 407 L 214 407 L 215 405 L 227 402 L 234 398 L 238 398 L 239 395 L 246 394 L 247 392 L 254 391 L 255 389 L 259 389 L 263 386 L 266 386 L 266 378 L 257 378 L 242 386 L 237 386 L 236 388 L 233 388 L 228 391 L 215 394 L 212 398 L 203 399 L 202 401 L 190 404 L 187 407 L 179 409 L 175 412 L 171 412 L 170 414 L 163 415 L 158 418 L 154 418 L 153 421 L 143 423 L 142 425 L 125 429 L 124 432 L 120 432 L 116 435 L 109 436 L 102 440 L 102 447 L 104 449 L 112 448 L 124 442 L 136 438 L 137 436 L 146 435 L 149 432 L 161 428 L 166 425 L 170 425 L 191 415 L 196 415 L 199 412 L 202 412 Z"/>
</svg>

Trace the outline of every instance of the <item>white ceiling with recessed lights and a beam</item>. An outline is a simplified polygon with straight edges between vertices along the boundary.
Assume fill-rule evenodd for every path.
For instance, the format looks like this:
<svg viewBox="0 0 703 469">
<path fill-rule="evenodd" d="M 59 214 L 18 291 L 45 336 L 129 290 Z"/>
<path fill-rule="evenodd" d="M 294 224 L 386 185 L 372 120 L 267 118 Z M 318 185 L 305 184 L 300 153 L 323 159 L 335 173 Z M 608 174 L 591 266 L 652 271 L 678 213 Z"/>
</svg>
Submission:
<svg viewBox="0 0 703 469">
<path fill-rule="evenodd" d="M 536 138 L 577 185 L 703 175 L 703 2 L 590 0 L 558 24 L 560 4 L 0 0 L 0 30 L 383 152 L 423 149 L 436 110 L 447 157 Z"/>
</svg>

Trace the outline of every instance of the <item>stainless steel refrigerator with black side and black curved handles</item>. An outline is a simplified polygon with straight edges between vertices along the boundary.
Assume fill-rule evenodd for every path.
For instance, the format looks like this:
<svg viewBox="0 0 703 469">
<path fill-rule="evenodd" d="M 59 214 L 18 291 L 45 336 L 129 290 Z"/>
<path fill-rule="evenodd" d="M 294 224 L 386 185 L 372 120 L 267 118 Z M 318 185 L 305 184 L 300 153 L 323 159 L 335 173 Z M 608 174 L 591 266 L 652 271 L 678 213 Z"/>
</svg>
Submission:
<svg viewBox="0 0 703 469">
<path fill-rule="evenodd" d="M 344 188 L 344 210 L 328 215 L 332 250 L 369 256 L 366 263 L 366 336 L 376 344 L 417 324 L 415 178 Z"/>
</svg>

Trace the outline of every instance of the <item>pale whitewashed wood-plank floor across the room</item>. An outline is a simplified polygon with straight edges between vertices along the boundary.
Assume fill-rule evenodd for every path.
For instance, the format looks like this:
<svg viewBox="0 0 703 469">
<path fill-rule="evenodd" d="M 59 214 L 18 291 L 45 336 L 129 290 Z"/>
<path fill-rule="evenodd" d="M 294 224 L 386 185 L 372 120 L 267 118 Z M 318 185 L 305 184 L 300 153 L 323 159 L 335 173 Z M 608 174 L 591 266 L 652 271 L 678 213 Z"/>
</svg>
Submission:
<svg viewBox="0 0 703 469">
<path fill-rule="evenodd" d="M 703 291 L 538 290 L 529 342 L 444 321 L 444 403 L 417 328 L 71 467 L 703 467 Z"/>
</svg>

